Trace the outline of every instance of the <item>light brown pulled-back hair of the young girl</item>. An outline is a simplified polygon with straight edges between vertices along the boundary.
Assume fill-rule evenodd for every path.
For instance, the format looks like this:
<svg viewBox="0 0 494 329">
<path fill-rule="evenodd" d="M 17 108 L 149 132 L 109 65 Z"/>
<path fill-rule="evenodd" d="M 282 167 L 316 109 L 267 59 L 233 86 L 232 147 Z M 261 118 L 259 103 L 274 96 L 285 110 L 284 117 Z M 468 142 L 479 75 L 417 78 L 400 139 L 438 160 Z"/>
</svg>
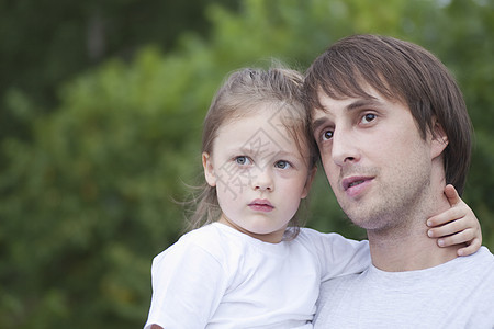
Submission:
<svg viewBox="0 0 494 329">
<path fill-rule="evenodd" d="M 308 168 L 314 168 L 318 152 L 311 134 L 308 113 L 303 105 L 302 86 L 303 76 L 300 72 L 282 67 L 234 71 L 216 92 L 204 118 L 202 151 L 210 155 L 214 151 L 214 139 L 223 124 L 255 113 L 262 105 L 281 114 L 282 124 L 301 154 L 308 150 Z M 213 223 L 221 216 L 216 188 L 204 182 L 199 189 L 200 194 L 192 201 L 195 211 L 189 218 L 190 229 Z M 290 226 L 294 227 L 293 236 L 299 230 L 295 217 L 290 222 Z"/>
</svg>

